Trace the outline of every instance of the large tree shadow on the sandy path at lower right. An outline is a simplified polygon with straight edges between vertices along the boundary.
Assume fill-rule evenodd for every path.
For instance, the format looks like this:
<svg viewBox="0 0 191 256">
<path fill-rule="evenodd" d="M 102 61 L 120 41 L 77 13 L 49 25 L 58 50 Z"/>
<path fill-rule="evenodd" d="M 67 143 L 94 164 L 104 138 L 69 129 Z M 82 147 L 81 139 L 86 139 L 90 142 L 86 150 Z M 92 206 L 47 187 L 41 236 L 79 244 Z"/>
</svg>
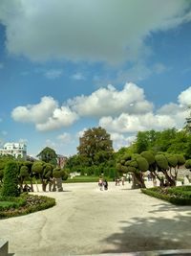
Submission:
<svg viewBox="0 0 191 256">
<path fill-rule="evenodd" d="M 165 205 L 166 206 L 166 205 Z M 191 248 L 191 217 L 133 218 L 120 221 L 120 233 L 114 233 L 102 243 L 110 244 L 102 253 L 135 252 Z"/>
</svg>

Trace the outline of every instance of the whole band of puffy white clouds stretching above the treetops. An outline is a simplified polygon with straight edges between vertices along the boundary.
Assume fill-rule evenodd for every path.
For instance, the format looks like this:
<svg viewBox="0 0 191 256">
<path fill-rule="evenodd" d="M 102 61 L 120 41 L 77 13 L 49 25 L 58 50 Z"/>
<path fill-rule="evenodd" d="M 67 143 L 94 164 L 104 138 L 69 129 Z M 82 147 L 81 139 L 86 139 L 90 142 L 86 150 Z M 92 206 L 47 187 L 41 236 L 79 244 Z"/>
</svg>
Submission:
<svg viewBox="0 0 191 256">
<path fill-rule="evenodd" d="M 189 104 L 190 94 L 191 87 L 180 93 L 178 104 L 162 105 L 154 111 L 152 103 L 145 100 L 143 89 L 130 82 L 122 90 L 108 85 L 89 96 L 70 99 L 61 106 L 52 97 L 43 97 L 37 105 L 15 107 L 11 116 L 18 122 L 33 123 L 40 131 L 70 127 L 79 117 L 96 117 L 99 126 L 127 138 L 124 134 L 138 130 L 182 128 L 188 116 L 185 105 Z M 60 135 L 59 139 L 69 139 L 68 134 Z"/>
</svg>

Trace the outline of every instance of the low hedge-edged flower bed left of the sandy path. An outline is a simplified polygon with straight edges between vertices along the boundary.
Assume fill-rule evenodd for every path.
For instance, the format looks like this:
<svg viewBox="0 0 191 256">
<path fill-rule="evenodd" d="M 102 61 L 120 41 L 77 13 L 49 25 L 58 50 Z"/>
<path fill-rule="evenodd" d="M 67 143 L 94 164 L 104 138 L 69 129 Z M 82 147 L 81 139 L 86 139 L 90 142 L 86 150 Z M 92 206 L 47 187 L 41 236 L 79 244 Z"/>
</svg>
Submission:
<svg viewBox="0 0 191 256">
<path fill-rule="evenodd" d="M 7 200 L 8 199 L 9 198 L 7 198 Z M 22 204 L 19 207 L 15 207 L 15 208 L 8 207 L 3 210 L 0 209 L 0 219 L 30 214 L 33 212 L 48 209 L 55 205 L 54 198 L 48 198 L 45 196 L 22 195 L 22 197 L 19 199 L 23 203 L 25 200 L 25 204 Z"/>
</svg>

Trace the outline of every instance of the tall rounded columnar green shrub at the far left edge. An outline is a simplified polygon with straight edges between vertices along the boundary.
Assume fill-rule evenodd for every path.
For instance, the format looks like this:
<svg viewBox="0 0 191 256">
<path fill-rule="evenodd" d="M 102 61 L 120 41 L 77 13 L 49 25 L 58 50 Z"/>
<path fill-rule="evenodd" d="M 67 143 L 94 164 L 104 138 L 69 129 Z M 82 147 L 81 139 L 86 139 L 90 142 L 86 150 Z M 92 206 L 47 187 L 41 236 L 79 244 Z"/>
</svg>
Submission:
<svg viewBox="0 0 191 256">
<path fill-rule="evenodd" d="M 1 195 L 4 197 L 18 197 L 18 164 L 15 161 L 9 161 L 6 164 L 4 172 L 4 183 Z"/>
</svg>

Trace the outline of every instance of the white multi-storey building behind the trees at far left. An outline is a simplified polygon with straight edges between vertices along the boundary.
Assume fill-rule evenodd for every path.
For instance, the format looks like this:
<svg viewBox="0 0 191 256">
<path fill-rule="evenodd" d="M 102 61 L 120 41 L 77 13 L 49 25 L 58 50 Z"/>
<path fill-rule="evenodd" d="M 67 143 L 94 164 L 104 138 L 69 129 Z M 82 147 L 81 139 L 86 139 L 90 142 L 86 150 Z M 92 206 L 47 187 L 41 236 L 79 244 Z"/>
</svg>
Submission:
<svg viewBox="0 0 191 256">
<path fill-rule="evenodd" d="M 15 158 L 27 159 L 27 146 L 24 143 L 8 142 L 0 149 L 0 154 L 11 154 Z"/>
</svg>

